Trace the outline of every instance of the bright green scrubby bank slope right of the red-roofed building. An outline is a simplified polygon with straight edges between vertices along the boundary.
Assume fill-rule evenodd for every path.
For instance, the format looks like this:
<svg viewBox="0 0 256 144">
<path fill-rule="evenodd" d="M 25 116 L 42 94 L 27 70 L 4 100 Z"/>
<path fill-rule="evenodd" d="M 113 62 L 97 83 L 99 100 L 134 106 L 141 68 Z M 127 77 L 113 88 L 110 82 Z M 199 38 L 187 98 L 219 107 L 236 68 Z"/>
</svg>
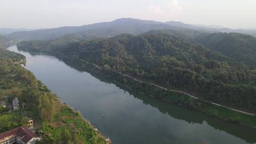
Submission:
<svg viewBox="0 0 256 144">
<path fill-rule="evenodd" d="M 68 130 L 71 135 L 73 135 L 72 133 L 78 133 L 81 136 L 81 141 L 85 144 L 94 144 L 95 142 L 97 144 L 111 143 L 108 137 L 105 137 L 98 131 L 95 131 L 91 122 L 82 117 L 79 111 L 74 111 L 74 108 L 61 103 L 59 100 L 55 102 L 55 105 L 58 112 L 56 113 L 54 121 L 44 125 L 42 125 L 43 122 L 41 121 L 41 125 L 37 126 L 37 131 L 42 131 L 42 136 L 46 139 L 50 139 L 46 141 L 46 143 L 50 143 L 52 140 L 62 141 L 63 138 L 59 136 L 64 130 Z M 89 135 L 91 136 L 88 137 Z M 92 142 L 92 139 L 95 142 Z"/>
</svg>

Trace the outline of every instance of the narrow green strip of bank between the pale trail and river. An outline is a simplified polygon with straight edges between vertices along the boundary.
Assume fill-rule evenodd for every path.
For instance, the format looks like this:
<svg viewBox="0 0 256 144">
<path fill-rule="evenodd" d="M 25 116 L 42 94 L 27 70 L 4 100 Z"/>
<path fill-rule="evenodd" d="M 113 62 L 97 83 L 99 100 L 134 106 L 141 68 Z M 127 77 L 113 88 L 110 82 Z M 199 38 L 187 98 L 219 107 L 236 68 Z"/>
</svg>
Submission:
<svg viewBox="0 0 256 144">
<path fill-rule="evenodd" d="M 105 77 L 110 78 L 112 81 L 119 83 L 130 90 L 134 90 L 138 93 L 145 94 L 146 96 L 154 97 L 157 99 L 162 99 L 165 101 L 172 102 L 174 104 L 182 105 L 186 108 L 192 108 L 203 113 L 210 114 L 214 117 L 219 117 L 225 121 L 231 123 L 238 123 L 246 126 L 256 128 L 256 117 L 253 115 L 248 115 L 246 113 L 240 113 L 234 111 L 230 108 L 221 107 L 218 104 L 213 104 L 201 99 L 194 99 L 187 96 L 182 92 L 169 91 L 161 89 L 152 84 L 144 83 L 143 81 L 136 81 L 133 78 L 129 78 L 125 75 L 120 74 L 119 72 L 111 71 L 110 69 L 99 69 L 99 66 L 95 64 L 81 61 L 81 60 L 72 60 L 71 58 L 55 55 L 60 59 L 66 59 L 67 61 L 74 61 L 79 63 L 82 67 L 87 67 L 91 72 L 96 72 L 98 74 L 104 75 Z"/>
</svg>

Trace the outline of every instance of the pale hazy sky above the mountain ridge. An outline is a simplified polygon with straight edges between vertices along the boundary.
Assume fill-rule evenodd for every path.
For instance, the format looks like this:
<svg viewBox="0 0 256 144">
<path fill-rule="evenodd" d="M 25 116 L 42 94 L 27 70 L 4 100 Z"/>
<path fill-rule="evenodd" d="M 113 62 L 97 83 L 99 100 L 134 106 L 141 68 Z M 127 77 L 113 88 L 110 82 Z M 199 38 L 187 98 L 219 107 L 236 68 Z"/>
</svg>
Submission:
<svg viewBox="0 0 256 144">
<path fill-rule="evenodd" d="M 256 28 L 256 0 L 0 0 L 0 27 L 81 26 L 117 18 Z"/>
</svg>

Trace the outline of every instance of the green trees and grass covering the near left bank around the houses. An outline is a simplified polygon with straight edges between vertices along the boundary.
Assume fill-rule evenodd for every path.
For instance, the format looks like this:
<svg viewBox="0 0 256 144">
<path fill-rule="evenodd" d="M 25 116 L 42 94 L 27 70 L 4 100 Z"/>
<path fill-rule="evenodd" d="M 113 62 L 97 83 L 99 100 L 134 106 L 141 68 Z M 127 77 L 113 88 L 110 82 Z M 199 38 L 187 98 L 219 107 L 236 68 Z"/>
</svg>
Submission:
<svg viewBox="0 0 256 144">
<path fill-rule="evenodd" d="M 21 54 L 0 49 L 0 100 L 7 101 L 6 108 L 0 106 L 0 133 L 26 126 L 27 117 L 31 117 L 43 138 L 39 144 L 106 144 L 79 111 L 74 112 L 62 104 L 32 72 L 14 63 L 20 60 L 25 63 L 25 58 Z M 15 97 L 20 105 L 26 103 L 27 106 L 9 111 L 11 100 Z"/>
</svg>

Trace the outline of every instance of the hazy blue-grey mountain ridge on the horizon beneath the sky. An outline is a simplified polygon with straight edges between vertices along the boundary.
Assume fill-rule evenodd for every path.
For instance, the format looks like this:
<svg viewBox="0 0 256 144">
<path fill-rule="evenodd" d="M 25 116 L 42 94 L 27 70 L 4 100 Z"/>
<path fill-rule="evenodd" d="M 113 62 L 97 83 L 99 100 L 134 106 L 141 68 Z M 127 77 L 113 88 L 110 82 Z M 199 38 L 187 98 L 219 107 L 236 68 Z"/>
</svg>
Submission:
<svg viewBox="0 0 256 144">
<path fill-rule="evenodd" d="M 188 24 L 184 24 L 178 21 L 158 22 L 154 20 L 141 20 L 135 18 L 120 18 L 110 22 L 101 22 L 90 25 L 78 26 L 78 27 L 58 27 L 50 29 L 40 29 L 33 31 L 14 32 L 6 35 L 12 39 L 18 40 L 43 40 L 43 39 L 57 39 L 65 35 L 81 33 L 88 30 L 100 30 L 100 29 L 114 29 L 119 31 L 118 34 L 128 33 L 132 35 L 138 35 L 150 30 L 158 29 L 172 29 L 172 30 L 201 30 L 212 32 L 237 32 L 256 36 L 256 30 L 244 30 L 244 29 L 229 29 L 229 28 L 206 28 L 196 27 Z"/>
</svg>

